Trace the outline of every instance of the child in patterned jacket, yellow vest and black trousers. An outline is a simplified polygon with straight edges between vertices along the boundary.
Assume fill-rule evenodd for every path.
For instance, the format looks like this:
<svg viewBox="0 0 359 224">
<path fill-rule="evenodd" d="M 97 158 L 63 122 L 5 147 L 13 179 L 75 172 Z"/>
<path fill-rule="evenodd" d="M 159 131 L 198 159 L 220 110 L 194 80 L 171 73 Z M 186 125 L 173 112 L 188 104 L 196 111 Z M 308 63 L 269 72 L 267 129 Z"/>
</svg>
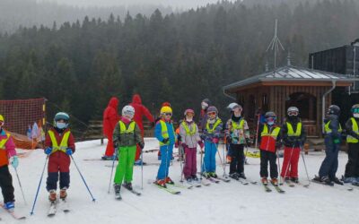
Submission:
<svg viewBox="0 0 359 224">
<path fill-rule="evenodd" d="M 232 107 L 231 107 L 232 106 Z M 241 116 L 242 107 L 237 103 L 228 106 L 232 108 L 232 116 L 227 121 L 225 136 L 229 143 L 229 151 L 232 157 L 230 165 L 230 177 L 243 178 L 244 175 L 244 144 L 250 144 L 250 130 L 247 121 Z"/>
</svg>

